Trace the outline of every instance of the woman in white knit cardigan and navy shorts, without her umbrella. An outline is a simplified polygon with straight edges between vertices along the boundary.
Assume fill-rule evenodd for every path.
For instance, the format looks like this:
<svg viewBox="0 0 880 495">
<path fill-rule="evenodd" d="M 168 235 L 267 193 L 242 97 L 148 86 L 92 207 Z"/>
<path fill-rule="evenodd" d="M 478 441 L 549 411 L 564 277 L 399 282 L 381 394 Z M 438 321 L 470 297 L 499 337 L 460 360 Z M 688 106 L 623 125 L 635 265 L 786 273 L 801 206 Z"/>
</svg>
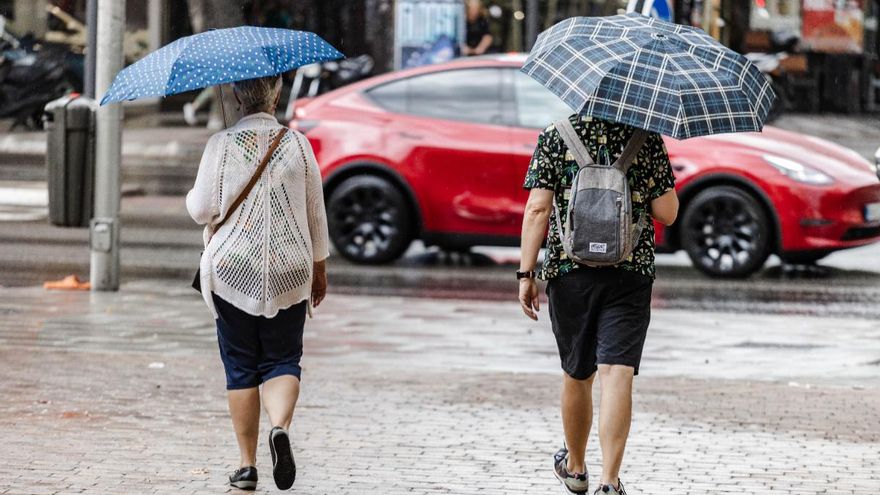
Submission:
<svg viewBox="0 0 880 495">
<path fill-rule="evenodd" d="M 241 454 L 229 483 L 257 486 L 262 402 L 272 424 L 272 474 L 287 490 L 296 478 L 288 430 L 303 326 L 308 305 L 317 307 L 327 292 L 324 193 L 308 139 L 275 119 L 281 76 L 237 82 L 233 90 L 246 116 L 208 141 L 186 208 L 205 225 L 201 292 L 217 324 Z"/>
</svg>

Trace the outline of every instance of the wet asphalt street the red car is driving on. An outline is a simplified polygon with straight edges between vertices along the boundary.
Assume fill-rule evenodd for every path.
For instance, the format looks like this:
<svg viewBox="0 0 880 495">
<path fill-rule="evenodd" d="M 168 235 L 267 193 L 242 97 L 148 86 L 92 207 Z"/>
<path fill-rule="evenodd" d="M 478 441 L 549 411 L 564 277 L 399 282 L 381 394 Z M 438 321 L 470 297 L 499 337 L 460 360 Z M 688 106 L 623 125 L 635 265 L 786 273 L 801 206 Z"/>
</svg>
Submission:
<svg viewBox="0 0 880 495">
<path fill-rule="evenodd" d="M 45 190 L 14 184 L 0 183 L 0 193 L 15 192 L 0 196 L 6 219 L 0 221 L 0 285 L 35 285 L 72 273 L 87 278 L 88 229 L 49 226 Z M 185 285 L 192 279 L 201 231 L 187 216 L 183 197 L 124 198 L 122 216 L 123 280 L 172 278 Z M 330 282 L 351 294 L 510 300 L 517 256 L 518 250 L 509 248 L 446 254 L 416 243 L 388 266 L 357 266 L 334 256 Z M 771 259 L 748 280 L 707 278 L 684 253 L 659 255 L 658 267 L 657 307 L 880 319 L 880 244 L 835 253 L 818 270 L 783 267 Z"/>
</svg>

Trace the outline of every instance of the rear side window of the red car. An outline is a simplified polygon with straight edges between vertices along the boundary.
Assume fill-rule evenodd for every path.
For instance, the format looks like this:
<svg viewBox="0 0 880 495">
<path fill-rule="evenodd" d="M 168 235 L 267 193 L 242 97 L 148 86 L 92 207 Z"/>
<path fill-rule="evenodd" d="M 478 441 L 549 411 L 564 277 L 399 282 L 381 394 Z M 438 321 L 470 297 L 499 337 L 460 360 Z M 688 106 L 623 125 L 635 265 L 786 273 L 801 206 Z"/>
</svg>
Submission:
<svg viewBox="0 0 880 495">
<path fill-rule="evenodd" d="M 458 69 L 378 86 L 368 95 L 392 112 L 502 125 L 501 69 Z"/>
</svg>

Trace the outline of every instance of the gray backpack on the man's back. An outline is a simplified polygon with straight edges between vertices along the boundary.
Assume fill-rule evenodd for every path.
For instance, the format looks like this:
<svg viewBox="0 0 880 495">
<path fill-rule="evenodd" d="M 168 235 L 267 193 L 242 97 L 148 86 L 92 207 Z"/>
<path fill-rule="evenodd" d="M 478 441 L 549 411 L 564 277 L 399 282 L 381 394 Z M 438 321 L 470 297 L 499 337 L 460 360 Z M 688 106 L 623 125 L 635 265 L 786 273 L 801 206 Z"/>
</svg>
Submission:
<svg viewBox="0 0 880 495">
<path fill-rule="evenodd" d="M 637 129 L 614 164 L 597 165 L 567 118 L 556 122 L 556 129 L 579 166 L 564 221 L 555 206 L 556 227 L 565 254 L 587 266 L 612 266 L 626 261 L 647 222 L 645 216 L 633 222 L 626 173 L 648 133 Z"/>
</svg>

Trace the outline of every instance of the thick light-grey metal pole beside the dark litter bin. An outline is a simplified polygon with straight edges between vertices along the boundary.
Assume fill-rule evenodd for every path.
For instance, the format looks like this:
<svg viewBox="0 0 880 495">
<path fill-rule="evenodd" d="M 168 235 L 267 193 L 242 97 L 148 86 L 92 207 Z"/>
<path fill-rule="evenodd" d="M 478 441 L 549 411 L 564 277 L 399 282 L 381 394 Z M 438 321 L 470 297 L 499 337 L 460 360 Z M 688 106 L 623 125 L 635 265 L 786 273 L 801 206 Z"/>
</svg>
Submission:
<svg viewBox="0 0 880 495">
<path fill-rule="evenodd" d="M 100 97 L 122 70 L 125 0 L 98 0 L 95 89 Z M 92 290 L 119 289 L 119 162 L 122 106 L 98 109 L 95 143 L 95 218 L 91 225 Z"/>
</svg>

